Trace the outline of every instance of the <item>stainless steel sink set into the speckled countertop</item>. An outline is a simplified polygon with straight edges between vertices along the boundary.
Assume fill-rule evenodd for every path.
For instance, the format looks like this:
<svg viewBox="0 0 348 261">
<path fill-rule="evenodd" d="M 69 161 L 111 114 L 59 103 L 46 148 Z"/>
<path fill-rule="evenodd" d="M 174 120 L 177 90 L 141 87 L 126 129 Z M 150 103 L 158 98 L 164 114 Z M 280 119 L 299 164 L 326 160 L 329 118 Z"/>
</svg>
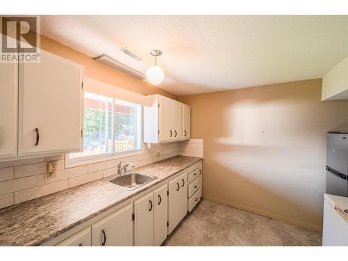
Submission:
<svg viewBox="0 0 348 261">
<path fill-rule="evenodd" d="M 152 175 L 141 173 L 126 173 L 117 177 L 113 177 L 111 180 L 107 180 L 107 182 L 111 182 L 112 184 L 122 189 L 133 190 L 156 179 L 157 177 Z"/>
</svg>

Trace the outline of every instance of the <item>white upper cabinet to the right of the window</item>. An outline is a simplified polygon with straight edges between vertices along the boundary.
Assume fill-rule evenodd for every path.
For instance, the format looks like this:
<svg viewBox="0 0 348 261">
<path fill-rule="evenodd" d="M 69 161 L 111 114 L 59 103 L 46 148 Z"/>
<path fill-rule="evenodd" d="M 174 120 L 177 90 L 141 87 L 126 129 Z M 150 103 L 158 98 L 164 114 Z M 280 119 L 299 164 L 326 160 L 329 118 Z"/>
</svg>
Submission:
<svg viewBox="0 0 348 261">
<path fill-rule="evenodd" d="M 144 142 L 166 143 L 190 139 L 191 107 L 162 95 L 150 95 L 144 106 Z"/>
</svg>

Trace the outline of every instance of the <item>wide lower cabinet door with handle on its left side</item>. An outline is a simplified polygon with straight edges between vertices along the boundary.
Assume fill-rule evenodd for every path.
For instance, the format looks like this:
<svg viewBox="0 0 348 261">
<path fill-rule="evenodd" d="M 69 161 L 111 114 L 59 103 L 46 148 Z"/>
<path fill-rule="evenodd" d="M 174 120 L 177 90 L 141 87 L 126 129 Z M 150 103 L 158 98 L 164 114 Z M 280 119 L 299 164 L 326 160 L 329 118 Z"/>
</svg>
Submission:
<svg viewBox="0 0 348 261">
<path fill-rule="evenodd" d="M 133 245 L 132 203 L 106 216 L 92 226 L 93 246 Z"/>
</svg>

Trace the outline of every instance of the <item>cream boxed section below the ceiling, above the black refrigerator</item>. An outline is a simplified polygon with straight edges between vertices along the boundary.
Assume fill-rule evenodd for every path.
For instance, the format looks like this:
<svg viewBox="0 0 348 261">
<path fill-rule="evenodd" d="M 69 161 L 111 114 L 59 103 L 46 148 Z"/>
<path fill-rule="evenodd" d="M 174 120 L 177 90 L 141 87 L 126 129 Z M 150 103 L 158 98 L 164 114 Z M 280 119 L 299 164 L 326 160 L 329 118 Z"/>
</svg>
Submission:
<svg viewBox="0 0 348 261">
<path fill-rule="evenodd" d="M 348 57 L 323 77 L 324 100 L 348 100 Z"/>
</svg>

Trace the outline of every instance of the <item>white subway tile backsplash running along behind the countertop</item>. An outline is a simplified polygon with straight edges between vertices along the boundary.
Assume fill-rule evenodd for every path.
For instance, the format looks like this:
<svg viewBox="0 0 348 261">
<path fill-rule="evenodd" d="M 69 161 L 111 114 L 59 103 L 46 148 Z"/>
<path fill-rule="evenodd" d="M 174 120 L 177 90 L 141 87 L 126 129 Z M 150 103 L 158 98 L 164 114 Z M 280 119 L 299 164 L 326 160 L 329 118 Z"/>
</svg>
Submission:
<svg viewBox="0 0 348 261">
<path fill-rule="evenodd" d="M 157 150 L 160 157 L 156 157 Z M 65 168 L 65 155 L 0 162 L 0 208 L 109 177 L 117 173 L 120 161 L 140 167 L 176 155 L 203 157 L 203 140 L 151 144 L 150 149 L 144 144 L 139 155 L 70 168 Z M 47 174 L 48 161 L 57 161 L 55 177 Z"/>
</svg>

